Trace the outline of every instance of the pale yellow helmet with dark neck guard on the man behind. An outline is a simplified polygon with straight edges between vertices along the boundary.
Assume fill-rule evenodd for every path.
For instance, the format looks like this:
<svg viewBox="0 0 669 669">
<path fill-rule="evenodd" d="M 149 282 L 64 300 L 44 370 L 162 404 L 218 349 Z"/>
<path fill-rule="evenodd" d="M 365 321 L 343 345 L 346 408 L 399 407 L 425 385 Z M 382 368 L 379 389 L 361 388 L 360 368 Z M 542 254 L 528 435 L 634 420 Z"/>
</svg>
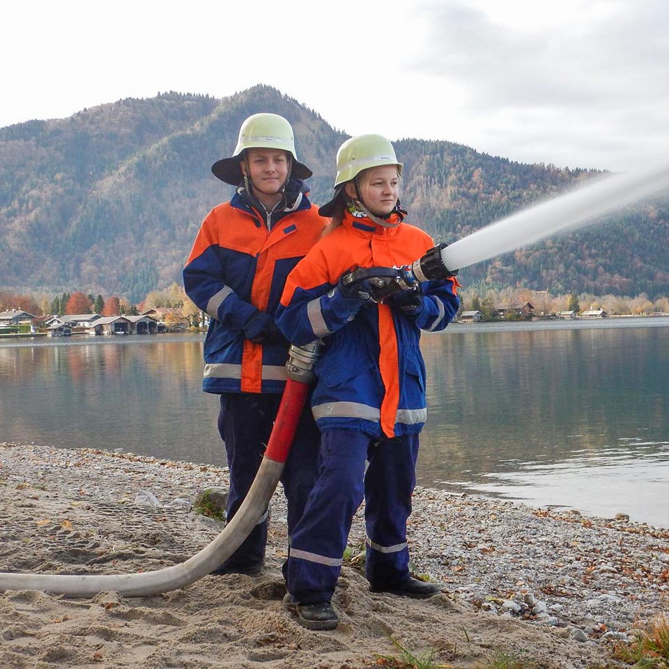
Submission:
<svg viewBox="0 0 669 669">
<path fill-rule="evenodd" d="M 233 186 L 239 185 L 243 178 L 239 164 L 247 148 L 275 148 L 278 151 L 287 151 L 292 156 L 291 175 L 298 179 L 308 179 L 312 176 L 312 171 L 298 162 L 291 124 L 279 114 L 262 113 L 249 116 L 239 129 L 233 155 L 212 165 L 211 171 L 214 176 Z"/>
</svg>

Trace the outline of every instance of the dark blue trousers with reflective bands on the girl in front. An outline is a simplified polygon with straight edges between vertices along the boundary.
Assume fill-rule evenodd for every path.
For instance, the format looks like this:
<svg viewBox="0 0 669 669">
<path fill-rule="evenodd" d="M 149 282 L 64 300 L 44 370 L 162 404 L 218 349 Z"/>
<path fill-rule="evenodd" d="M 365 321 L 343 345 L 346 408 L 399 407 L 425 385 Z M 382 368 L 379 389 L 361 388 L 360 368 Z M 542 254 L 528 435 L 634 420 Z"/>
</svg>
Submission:
<svg viewBox="0 0 669 669">
<path fill-rule="evenodd" d="M 379 441 L 350 430 L 323 432 L 318 481 L 291 532 L 287 585 L 298 602 L 332 598 L 348 532 L 363 498 L 367 580 L 392 586 L 408 578 L 406 521 L 417 454 L 417 435 Z"/>
</svg>

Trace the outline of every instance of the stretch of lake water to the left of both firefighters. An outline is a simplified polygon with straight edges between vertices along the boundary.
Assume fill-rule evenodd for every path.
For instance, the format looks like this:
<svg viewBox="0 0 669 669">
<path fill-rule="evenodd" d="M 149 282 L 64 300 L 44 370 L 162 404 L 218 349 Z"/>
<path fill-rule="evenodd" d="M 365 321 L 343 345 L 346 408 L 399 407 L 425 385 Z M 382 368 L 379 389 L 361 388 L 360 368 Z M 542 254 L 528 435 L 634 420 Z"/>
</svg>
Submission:
<svg viewBox="0 0 669 669">
<path fill-rule="evenodd" d="M 0 346 L 0 438 L 225 464 L 202 338 Z"/>
</svg>

